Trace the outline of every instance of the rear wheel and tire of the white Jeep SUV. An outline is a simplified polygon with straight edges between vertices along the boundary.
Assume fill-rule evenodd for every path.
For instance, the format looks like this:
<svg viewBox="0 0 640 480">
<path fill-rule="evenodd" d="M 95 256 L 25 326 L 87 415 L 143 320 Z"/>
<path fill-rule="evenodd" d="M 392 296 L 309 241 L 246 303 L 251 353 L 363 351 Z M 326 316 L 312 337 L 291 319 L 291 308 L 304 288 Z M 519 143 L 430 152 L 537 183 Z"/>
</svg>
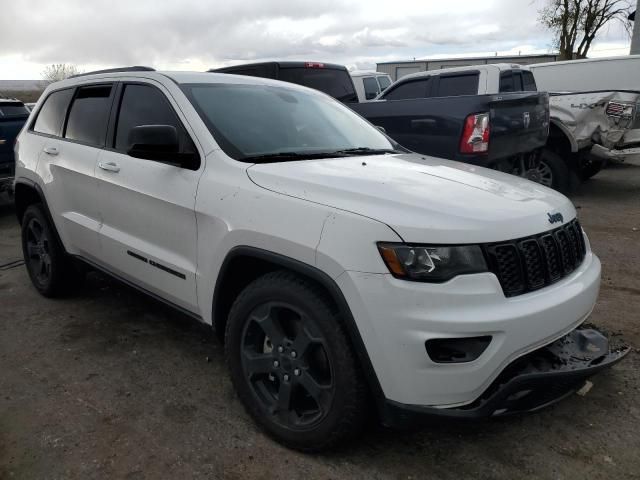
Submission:
<svg viewBox="0 0 640 480">
<path fill-rule="evenodd" d="M 75 285 L 71 259 L 60 244 L 42 204 L 22 217 L 22 253 L 33 286 L 45 297 L 63 296 Z"/>
</svg>

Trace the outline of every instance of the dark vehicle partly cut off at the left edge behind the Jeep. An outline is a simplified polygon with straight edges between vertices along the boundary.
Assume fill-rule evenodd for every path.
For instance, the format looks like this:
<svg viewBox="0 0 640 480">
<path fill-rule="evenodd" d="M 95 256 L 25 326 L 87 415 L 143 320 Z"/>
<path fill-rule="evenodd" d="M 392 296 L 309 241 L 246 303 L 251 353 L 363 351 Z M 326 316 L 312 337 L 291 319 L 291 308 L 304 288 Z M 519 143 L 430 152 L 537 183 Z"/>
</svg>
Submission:
<svg viewBox="0 0 640 480">
<path fill-rule="evenodd" d="M 27 118 L 29 110 L 22 102 L 0 98 L 0 193 L 10 191 L 13 186 L 13 146 Z"/>
</svg>

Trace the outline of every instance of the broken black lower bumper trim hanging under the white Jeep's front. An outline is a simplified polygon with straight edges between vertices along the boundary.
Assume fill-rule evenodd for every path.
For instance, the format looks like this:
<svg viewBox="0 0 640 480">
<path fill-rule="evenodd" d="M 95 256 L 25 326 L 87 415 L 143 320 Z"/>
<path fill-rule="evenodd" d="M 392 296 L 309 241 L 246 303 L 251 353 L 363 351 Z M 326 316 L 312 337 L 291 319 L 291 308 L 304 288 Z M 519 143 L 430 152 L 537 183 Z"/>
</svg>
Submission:
<svg viewBox="0 0 640 480">
<path fill-rule="evenodd" d="M 515 360 L 469 405 L 436 408 L 387 400 L 382 421 L 403 428 L 433 417 L 482 418 L 534 412 L 576 392 L 589 377 L 622 360 L 629 350 L 612 346 L 597 330 L 578 328 Z"/>
</svg>

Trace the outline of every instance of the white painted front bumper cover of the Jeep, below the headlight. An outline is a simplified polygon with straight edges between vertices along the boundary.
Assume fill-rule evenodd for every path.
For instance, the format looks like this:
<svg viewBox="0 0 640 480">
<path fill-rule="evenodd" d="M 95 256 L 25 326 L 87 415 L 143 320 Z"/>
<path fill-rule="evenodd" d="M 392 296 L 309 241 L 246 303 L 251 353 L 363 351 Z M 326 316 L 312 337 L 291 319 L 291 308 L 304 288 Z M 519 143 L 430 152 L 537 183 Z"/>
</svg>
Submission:
<svg viewBox="0 0 640 480">
<path fill-rule="evenodd" d="M 384 399 L 458 408 L 482 398 L 518 358 L 584 322 L 598 296 L 600 261 L 588 251 L 567 277 L 510 298 L 505 298 L 492 273 L 461 275 L 434 284 L 345 272 L 336 282 L 366 345 Z M 442 362 L 427 353 L 429 341 L 474 338 L 490 341 L 463 361 Z"/>
</svg>

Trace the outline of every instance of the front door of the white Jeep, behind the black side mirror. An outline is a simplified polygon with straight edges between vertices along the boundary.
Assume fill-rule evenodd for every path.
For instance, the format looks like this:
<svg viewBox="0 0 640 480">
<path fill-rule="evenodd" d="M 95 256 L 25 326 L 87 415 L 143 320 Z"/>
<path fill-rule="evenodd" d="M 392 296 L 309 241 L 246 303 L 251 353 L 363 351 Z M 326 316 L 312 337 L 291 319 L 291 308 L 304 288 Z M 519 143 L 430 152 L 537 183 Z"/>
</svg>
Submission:
<svg viewBox="0 0 640 480">
<path fill-rule="evenodd" d="M 203 166 L 198 161 L 185 168 L 178 161 L 127 154 L 136 126 L 174 126 L 180 153 L 198 152 L 193 135 L 159 83 L 123 83 L 116 103 L 108 146 L 96 169 L 103 262 L 125 280 L 197 312 L 194 205 Z"/>
</svg>

